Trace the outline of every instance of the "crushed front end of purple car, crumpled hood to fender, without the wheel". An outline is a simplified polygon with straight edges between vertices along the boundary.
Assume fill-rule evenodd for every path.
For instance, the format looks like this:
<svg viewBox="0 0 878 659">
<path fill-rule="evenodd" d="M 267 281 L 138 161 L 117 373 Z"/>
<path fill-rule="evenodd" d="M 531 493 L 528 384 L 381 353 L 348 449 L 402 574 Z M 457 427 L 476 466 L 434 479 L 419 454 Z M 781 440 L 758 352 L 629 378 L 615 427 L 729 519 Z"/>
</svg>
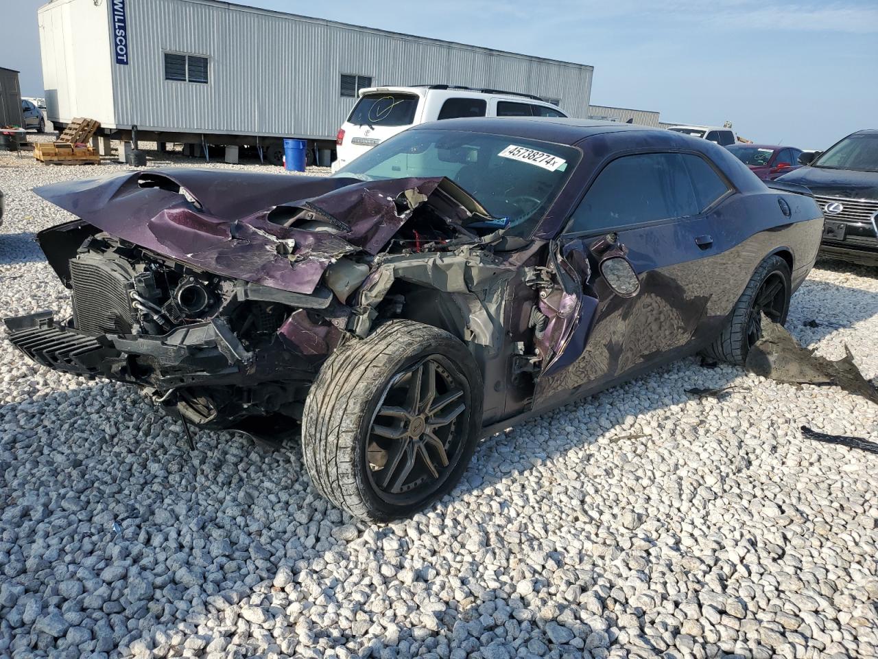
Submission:
<svg viewBox="0 0 878 659">
<path fill-rule="evenodd" d="M 273 179 L 270 198 L 282 193 Z M 186 172 L 80 185 L 87 199 L 42 189 L 83 215 L 39 235 L 75 313 L 13 319 L 13 343 L 46 366 L 144 387 L 212 427 L 289 424 L 328 354 L 385 318 L 433 322 L 499 359 L 519 265 L 464 228 L 490 221 L 475 199 L 442 177 L 287 180 L 296 200 L 255 212 L 217 213 Z M 135 202 L 152 216 L 133 221 Z M 413 294 L 427 290 L 441 293 L 430 305 Z"/>
</svg>

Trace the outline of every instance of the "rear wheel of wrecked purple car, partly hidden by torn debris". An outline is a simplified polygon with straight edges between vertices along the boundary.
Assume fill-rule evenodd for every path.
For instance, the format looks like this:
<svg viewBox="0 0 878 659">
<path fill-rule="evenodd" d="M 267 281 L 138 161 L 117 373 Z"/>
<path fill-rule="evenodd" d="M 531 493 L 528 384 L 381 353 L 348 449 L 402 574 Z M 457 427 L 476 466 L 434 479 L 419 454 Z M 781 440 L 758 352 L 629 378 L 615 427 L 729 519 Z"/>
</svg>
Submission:
<svg viewBox="0 0 878 659">
<path fill-rule="evenodd" d="M 750 348 L 762 336 L 762 314 L 781 325 L 787 322 L 792 295 L 789 264 L 777 255 L 767 257 L 753 276 L 731 313 L 723 333 L 704 350 L 708 358 L 744 366 Z"/>
</svg>

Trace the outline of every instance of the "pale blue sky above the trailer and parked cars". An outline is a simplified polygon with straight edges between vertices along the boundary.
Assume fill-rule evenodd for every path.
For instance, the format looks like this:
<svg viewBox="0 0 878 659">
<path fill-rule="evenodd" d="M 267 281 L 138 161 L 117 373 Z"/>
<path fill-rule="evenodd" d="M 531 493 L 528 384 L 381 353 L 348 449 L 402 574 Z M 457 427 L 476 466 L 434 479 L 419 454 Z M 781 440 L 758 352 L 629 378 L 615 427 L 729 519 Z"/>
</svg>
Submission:
<svg viewBox="0 0 878 659">
<path fill-rule="evenodd" d="M 40 4 L 0 3 L 0 66 L 20 69 L 22 91 L 33 96 L 42 93 Z M 755 141 L 822 149 L 878 127 L 876 0 L 241 4 L 591 64 L 594 105 L 680 123 L 730 120 Z"/>
</svg>

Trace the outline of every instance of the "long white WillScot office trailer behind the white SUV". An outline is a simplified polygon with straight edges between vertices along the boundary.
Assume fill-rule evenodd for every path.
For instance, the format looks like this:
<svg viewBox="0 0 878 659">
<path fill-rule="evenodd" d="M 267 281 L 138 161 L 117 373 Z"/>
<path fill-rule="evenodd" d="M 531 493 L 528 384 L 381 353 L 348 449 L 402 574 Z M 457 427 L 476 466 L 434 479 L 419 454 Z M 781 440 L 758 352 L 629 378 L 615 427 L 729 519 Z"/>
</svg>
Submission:
<svg viewBox="0 0 878 659">
<path fill-rule="evenodd" d="M 363 87 L 518 91 L 587 113 L 593 67 L 216 0 L 53 0 L 40 7 L 48 118 L 191 144 L 284 137 L 334 148 Z M 313 149 L 309 149 L 313 150 Z"/>
</svg>

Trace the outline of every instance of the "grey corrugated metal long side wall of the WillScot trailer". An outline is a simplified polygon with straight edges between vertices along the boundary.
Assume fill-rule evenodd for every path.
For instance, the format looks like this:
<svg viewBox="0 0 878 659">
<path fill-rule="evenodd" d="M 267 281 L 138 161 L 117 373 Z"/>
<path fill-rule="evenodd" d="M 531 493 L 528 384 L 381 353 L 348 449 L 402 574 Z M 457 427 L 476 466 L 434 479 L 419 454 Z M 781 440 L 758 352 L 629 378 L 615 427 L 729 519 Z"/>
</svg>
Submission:
<svg viewBox="0 0 878 659">
<path fill-rule="evenodd" d="M 112 66 L 119 126 L 332 138 L 356 101 L 341 97 L 342 73 L 372 76 L 373 85 L 523 91 L 587 114 L 593 69 L 585 65 L 198 0 L 127 7 L 131 64 Z M 210 83 L 165 81 L 165 51 L 207 55 Z"/>
</svg>

